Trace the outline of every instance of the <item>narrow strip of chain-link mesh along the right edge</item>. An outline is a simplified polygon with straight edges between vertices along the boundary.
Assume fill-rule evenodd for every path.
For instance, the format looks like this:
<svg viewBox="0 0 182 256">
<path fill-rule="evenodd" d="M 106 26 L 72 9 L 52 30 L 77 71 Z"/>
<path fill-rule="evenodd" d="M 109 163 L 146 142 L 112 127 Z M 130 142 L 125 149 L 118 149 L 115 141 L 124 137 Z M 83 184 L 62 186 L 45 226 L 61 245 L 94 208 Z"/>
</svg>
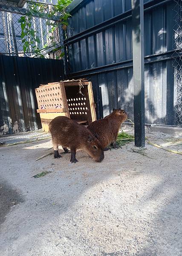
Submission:
<svg viewBox="0 0 182 256">
<path fill-rule="evenodd" d="M 173 67 L 174 83 L 176 91 L 174 93 L 175 122 L 177 126 L 182 126 L 182 1 L 174 0 L 174 36 L 173 36 Z"/>
</svg>

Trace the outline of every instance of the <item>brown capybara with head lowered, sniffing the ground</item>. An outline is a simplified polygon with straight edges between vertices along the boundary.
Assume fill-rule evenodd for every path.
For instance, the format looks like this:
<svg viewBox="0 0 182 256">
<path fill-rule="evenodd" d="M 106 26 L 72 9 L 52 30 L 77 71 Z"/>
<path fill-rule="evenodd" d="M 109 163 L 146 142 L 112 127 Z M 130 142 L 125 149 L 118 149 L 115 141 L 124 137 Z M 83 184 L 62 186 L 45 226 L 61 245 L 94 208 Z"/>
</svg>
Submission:
<svg viewBox="0 0 182 256">
<path fill-rule="evenodd" d="M 59 158 L 58 146 L 61 145 L 68 153 L 71 150 L 70 162 L 76 163 L 76 150 L 83 149 L 96 162 L 104 159 L 104 152 L 101 143 L 93 134 L 83 125 L 78 124 L 66 116 L 57 116 L 49 124 L 49 131 L 52 135 L 52 143 L 54 148 L 54 157 Z"/>
</svg>

